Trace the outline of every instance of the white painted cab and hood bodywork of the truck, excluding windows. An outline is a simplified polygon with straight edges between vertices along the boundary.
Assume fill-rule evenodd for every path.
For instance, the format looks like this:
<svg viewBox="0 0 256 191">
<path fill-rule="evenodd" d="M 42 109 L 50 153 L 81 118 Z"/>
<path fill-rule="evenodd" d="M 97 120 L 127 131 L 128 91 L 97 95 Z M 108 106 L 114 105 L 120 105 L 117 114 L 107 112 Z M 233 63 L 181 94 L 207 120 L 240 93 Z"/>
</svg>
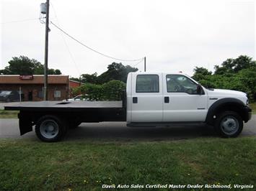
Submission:
<svg viewBox="0 0 256 191">
<path fill-rule="evenodd" d="M 138 75 L 158 75 L 159 92 L 136 92 Z M 221 98 L 237 98 L 244 104 L 247 103 L 246 93 L 234 90 L 208 90 L 203 88 L 203 95 L 168 92 L 167 75 L 182 75 L 198 85 L 195 80 L 182 73 L 129 73 L 126 86 L 128 123 L 203 122 L 206 121 L 208 108 Z M 164 103 L 164 97 L 169 97 L 169 103 Z M 133 98 L 137 98 L 138 103 L 133 103 Z"/>
</svg>

